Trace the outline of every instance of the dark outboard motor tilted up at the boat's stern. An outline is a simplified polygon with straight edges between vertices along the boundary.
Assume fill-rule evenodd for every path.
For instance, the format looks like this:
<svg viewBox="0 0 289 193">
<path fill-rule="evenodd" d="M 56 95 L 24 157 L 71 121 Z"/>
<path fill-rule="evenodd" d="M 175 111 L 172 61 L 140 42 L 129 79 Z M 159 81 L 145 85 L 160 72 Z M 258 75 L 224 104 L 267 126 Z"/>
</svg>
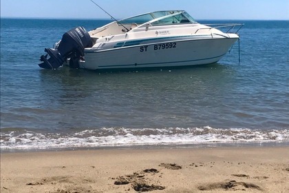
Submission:
<svg viewBox="0 0 289 193">
<path fill-rule="evenodd" d="M 57 48 L 45 48 L 44 51 L 47 54 L 40 57 L 40 61 L 43 61 L 43 63 L 39 63 L 39 66 L 46 69 L 56 69 L 63 65 L 68 58 L 71 58 L 70 64 L 74 68 L 78 68 L 78 60 L 84 56 L 84 49 L 91 47 L 92 38 L 89 33 L 85 28 L 77 27 L 63 34 Z M 49 59 L 47 59 L 48 55 L 50 55 Z"/>
</svg>

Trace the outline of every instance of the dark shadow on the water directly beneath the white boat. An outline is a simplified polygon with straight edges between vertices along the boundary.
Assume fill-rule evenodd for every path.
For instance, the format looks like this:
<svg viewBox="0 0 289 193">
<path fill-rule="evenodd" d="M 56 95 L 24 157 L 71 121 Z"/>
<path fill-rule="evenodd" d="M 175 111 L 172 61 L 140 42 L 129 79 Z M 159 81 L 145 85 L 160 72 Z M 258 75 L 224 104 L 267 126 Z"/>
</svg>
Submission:
<svg viewBox="0 0 289 193">
<path fill-rule="evenodd" d="M 115 68 L 115 69 L 102 69 L 102 70 L 87 70 L 87 69 L 75 69 L 69 68 L 68 65 L 63 65 L 61 68 L 56 70 L 44 70 L 39 69 L 41 80 L 45 81 L 49 79 L 50 81 L 68 81 L 71 84 L 76 83 L 79 85 L 81 81 L 87 81 L 87 79 L 99 79 L 99 77 L 103 77 L 105 74 L 111 75 L 125 75 L 125 74 L 159 74 L 162 72 L 175 72 L 181 74 L 200 74 L 200 70 L 202 72 L 206 72 L 206 70 L 233 70 L 233 66 L 238 65 L 238 63 L 230 63 L 228 65 L 226 62 L 217 62 L 217 63 L 208 63 L 203 65 L 185 65 L 185 66 L 174 66 L 174 67 L 153 67 L 153 68 Z M 164 74 L 164 73 L 163 73 Z M 113 77 L 111 77 L 113 78 Z M 118 77 L 120 79 L 125 80 L 125 77 Z M 137 78 L 137 77 L 136 77 Z M 77 79 L 77 81 L 75 81 Z M 99 79 L 100 80 L 100 79 Z"/>
</svg>

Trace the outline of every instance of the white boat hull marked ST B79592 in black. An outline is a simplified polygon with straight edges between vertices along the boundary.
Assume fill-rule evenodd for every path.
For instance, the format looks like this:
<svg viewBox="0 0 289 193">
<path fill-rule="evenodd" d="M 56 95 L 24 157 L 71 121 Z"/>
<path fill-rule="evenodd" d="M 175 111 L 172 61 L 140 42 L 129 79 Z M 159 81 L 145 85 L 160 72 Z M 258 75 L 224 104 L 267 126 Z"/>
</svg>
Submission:
<svg viewBox="0 0 289 193">
<path fill-rule="evenodd" d="M 217 37 L 162 41 L 109 50 L 85 49 L 80 68 L 89 70 L 164 68 L 215 63 L 239 39 Z"/>
</svg>

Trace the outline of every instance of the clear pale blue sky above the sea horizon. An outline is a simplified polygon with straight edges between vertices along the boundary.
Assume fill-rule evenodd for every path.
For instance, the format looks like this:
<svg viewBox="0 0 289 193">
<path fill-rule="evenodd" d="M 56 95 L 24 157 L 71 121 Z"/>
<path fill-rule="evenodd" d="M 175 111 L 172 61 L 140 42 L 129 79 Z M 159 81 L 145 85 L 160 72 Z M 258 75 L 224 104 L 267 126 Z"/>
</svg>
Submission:
<svg viewBox="0 0 289 193">
<path fill-rule="evenodd" d="M 94 0 L 116 19 L 156 10 L 186 10 L 195 19 L 289 20 L 289 0 Z M 90 0 L 1 0 L 1 17 L 108 18 Z"/>
</svg>

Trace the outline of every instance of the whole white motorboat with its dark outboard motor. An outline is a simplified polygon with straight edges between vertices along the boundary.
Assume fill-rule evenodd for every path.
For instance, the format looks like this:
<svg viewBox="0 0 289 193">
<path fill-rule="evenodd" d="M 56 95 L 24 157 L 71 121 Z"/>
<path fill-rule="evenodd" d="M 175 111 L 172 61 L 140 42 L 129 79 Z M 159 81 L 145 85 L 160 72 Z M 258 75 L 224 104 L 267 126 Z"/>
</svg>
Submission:
<svg viewBox="0 0 289 193">
<path fill-rule="evenodd" d="M 56 69 L 67 63 L 70 68 L 109 70 L 216 63 L 239 40 L 242 25 L 204 25 L 184 10 L 139 14 L 90 31 L 69 30 L 54 48 L 45 48 L 39 66 Z"/>
</svg>

